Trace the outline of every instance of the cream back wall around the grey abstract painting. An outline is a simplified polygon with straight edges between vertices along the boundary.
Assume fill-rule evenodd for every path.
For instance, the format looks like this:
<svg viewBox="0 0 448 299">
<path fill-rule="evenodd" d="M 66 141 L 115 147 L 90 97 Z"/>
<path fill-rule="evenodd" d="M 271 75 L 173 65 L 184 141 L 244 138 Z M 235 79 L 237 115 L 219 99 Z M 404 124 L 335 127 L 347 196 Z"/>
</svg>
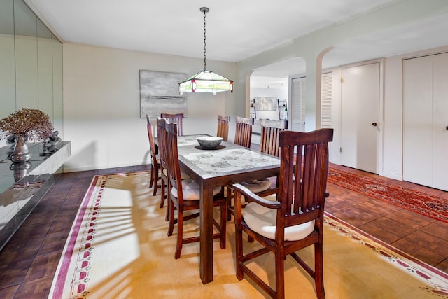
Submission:
<svg viewBox="0 0 448 299">
<path fill-rule="evenodd" d="M 236 78 L 233 63 L 207 66 Z M 64 139 L 72 153 L 65 172 L 150 162 L 146 118 L 140 118 L 140 69 L 190 76 L 202 69 L 202 60 L 64 43 Z M 235 89 L 241 90 L 237 84 Z M 237 98 L 230 92 L 189 94 L 183 133 L 216 134 L 216 116 L 234 116 Z"/>
</svg>

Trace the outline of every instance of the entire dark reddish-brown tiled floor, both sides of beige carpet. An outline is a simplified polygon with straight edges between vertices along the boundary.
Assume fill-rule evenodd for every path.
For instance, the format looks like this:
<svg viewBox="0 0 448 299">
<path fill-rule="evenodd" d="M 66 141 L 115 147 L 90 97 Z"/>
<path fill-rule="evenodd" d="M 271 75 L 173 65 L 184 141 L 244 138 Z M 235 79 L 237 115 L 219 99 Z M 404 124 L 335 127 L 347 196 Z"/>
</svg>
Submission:
<svg viewBox="0 0 448 299">
<path fill-rule="evenodd" d="M 0 298 L 47 298 L 71 223 L 92 177 L 97 174 L 141 170 L 149 170 L 149 165 L 62 174 L 0 252 Z M 448 200 L 448 193 L 441 190 L 379 178 Z M 328 190 L 330 197 L 325 210 L 448 272 L 448 223 L 435 221 L 332 184 L 328 185 Z"/>
</svg>

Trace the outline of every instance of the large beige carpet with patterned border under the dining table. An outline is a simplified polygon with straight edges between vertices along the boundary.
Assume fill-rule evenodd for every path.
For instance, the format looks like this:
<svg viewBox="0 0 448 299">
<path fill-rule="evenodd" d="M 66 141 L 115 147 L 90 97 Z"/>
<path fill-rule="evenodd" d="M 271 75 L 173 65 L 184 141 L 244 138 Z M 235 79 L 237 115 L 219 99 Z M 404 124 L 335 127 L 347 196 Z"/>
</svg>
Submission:
<svg viewBox="0 0 448 299">
<path fill-rule="evenodd" d="M 235 277 L 235 225 L 228 244 L 214 244 L 214 281 L 199 276 L 199 244 L 167 237 L 160 195 L 151 196 L 148 173 L 96 176 L 85 196 L 55 274 L 49 298 L 267 298 Z M 327 216 L 324 231 L 327 298 L 448 298 L 448 275 Z M 197 223 L 186 227 L 199 232 Z M 254 244 L 246 244 L 255 246 Z M 312 251 L 302 253 L 312 260 Z M 273 257 L 260 258 L 273 284 Z M 314 282 L 286 260 L 286 297 L 315 298 Z"/>
</svg>

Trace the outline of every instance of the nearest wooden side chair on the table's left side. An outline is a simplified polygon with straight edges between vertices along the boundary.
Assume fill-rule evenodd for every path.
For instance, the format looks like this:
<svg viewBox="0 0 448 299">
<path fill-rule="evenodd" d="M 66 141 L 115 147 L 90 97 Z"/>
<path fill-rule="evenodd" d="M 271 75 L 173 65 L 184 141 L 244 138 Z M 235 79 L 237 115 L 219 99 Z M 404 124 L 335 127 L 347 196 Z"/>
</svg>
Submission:
<svg viewBox="0 0 448 299">
<path fill-rule="evenodd" d="M 168 235 L 171 236 L 174 230 L 174 224 L 177 223 L 177 243 L 174 258 L 181 257 L 182 245 L 192 242 L 199 242 L 200 236 L 183 237 L 183 222 L 200 215 L 199 211 L 194 214 L 184 216 L 185 211 L 200 209 L 200 186 L 193 179 L 182 179 L 181 169 L 179 166 L 179 153 L 177 149 L 177 124 L 167 123 L 166 127 L 166 148 L 167 151 L 167 167 L 169 180 L 169 228 Z M 221 186 L 213 189 L 213 198 L 204 198 L 202 200 L 213 200 L 213 206 L 219 207 L 221 210 L 221 222 L 214 220 L 214 225 L 218 232 L 214 233 L 214 239 L 220 239 L 221 249 L 225 248 L 226 225 L 227 225 L 227 209 L 225 206 L 225 197 L 221 195 Z M 174 211 L 177 210 L 177 218 L 174 218 Z"/>
</svg>

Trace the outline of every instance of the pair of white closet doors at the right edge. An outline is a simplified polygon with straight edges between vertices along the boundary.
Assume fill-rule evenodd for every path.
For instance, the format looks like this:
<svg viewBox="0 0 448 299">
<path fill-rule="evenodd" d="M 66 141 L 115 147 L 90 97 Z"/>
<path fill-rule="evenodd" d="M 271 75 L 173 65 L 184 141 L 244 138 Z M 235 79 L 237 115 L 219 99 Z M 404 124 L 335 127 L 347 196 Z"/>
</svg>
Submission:
<svg viewBox="0 0 448 299">
<path fill-rule="evenodd" d="M 448 53 L 403 61 L 403 179 L 448 190 Z"/>
</svg>

